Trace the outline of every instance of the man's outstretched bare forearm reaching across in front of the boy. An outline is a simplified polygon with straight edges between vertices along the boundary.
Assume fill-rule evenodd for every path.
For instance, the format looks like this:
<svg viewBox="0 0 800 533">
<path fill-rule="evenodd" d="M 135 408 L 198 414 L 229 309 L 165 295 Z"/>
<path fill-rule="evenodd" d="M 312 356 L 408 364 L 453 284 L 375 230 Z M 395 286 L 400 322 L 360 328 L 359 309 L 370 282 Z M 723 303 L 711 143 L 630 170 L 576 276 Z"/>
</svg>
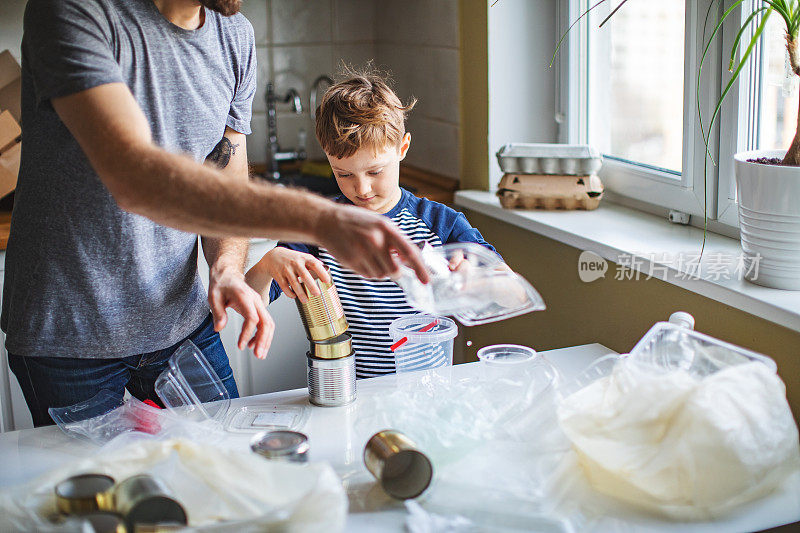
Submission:
<svg viewBox="0 0 800 533">
<path fill-rule="evenodd" d="M 124 209 L 165 226 L 209 237 L 315 242 L 335 208 L 322 197 L 238 180 L 154 145 L 129 152 L 126 164 L 115 165 L 111 192 Z"/>
</svg>

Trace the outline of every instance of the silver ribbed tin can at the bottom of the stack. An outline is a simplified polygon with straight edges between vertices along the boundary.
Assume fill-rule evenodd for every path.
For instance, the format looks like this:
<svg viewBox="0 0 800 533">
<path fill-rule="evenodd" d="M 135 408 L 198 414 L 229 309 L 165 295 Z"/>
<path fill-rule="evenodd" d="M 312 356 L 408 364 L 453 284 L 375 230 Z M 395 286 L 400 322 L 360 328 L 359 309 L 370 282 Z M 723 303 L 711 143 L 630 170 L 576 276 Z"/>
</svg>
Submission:
<svg viewBox="0 0 800 533">
<path fill-rule="evenodd" d="M 321 407 L 339 407 L 356 399 L 356 358 L 308 359 L 308 399 Z"/>
</svg>

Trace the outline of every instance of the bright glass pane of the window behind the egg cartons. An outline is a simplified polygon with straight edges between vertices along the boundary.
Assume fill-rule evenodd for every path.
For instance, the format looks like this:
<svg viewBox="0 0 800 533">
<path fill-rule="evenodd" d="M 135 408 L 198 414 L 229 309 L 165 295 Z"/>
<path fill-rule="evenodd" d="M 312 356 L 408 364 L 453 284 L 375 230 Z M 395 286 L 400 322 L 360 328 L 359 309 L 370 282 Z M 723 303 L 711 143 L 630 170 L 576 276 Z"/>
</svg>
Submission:
<svg viewBox="0 0 800 533">
<path fill-rule="evenodd" d="M 684 0 L 630 2 L 589 50 L 589 141 L 607 157 L 680 175 L 684 19 Z"/>
</svg>

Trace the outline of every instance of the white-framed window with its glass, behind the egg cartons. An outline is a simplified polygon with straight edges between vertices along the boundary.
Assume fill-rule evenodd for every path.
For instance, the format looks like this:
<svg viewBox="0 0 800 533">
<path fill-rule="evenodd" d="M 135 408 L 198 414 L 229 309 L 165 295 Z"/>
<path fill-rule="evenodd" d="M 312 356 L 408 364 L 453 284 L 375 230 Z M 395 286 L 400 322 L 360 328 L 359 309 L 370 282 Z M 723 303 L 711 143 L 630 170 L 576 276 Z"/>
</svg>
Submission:
<svg viewBox="0 0 800 533">
<path fill-rule="evenodd" d="M 562 2 L 561 27 L 597 3 Z M 560 52 L 568 58 L 560 62 L 560 139 L 600 149 L 600 176 L 612 196 L 713 218 L 717 167 L 705 166 L 696 112 L 699 94 L 707 122 L 720 93 L 719 39 L 698 80 L 708 4 L 633 0 L 598 28 L 617 4 L 592 10 Z"/>
</svg>

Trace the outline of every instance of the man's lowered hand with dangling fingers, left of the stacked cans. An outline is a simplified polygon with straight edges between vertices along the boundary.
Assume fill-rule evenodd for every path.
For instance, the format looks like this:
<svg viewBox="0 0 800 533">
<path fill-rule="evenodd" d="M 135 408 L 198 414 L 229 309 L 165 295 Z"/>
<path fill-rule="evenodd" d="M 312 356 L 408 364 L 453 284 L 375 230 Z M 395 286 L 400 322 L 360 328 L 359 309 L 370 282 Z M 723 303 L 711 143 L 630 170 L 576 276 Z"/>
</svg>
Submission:
<svg viewBox="0 0 800 533">
<path fill-rule="evenodd" d="M 237 345 L 253 350 L 264 359 L 275 333 L 275 322 L 267 312 L 261 296 L 245 282 L 237 268 L 212 268 L 208 287 L 208 304 L 214 316 L 214 330 L 221 331 L 228 322 L 226 308 L 230 307 L 244 318 Z"/>
</svg>

